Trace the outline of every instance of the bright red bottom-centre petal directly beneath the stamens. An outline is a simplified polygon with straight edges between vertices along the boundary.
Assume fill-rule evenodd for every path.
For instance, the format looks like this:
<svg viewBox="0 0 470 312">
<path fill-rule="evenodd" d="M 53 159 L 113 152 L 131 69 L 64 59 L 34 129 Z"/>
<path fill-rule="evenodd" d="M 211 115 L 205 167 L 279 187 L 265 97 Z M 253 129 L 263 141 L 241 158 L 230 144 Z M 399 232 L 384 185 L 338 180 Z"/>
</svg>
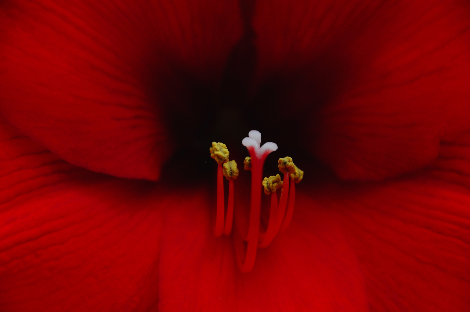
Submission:
<svg viewBox="0 0 470 312">
<path fill-rule="evenodd" d="M 239 271 L 231 238 L 214 237 L 211 203 L 202 191 L 167 211 L 160 311 L 368 311 L 356 257 L 312 200 L 300 196 L 291 230 L 258 250 L 251 273 Z"/>
</svg>

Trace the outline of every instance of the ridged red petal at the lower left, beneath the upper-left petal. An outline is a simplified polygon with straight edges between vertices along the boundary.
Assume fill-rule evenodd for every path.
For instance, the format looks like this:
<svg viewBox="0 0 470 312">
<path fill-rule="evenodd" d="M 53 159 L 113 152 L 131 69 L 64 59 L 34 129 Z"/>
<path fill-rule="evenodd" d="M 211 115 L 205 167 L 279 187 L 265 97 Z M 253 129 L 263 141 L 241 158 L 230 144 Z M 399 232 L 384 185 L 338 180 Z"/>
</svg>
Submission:
<svg viewBox="0 0 470 312">
<path fill-rule="evenodd" d="M 0 140 L 0 310 L 157 309 L 153 187 L 86 174 L 6 125 Z"/>
</svg>

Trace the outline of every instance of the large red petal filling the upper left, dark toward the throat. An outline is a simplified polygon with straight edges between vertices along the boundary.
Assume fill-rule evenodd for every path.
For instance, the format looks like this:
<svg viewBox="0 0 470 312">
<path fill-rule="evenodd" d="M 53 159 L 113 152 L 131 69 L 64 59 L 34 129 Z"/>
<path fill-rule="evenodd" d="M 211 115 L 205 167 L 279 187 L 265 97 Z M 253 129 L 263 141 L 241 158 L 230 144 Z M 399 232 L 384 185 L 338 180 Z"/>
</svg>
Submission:
<svg viewBox="0 0 470 312">
<path fill-rule="evenodd" d="M 172 151 L 162 98 L 188 91 L 175 76 L 213 84 L 242 31 L 233 0 L 2 7 L 1 113 L 68 162 L 128 178 L 157 179 Z"/>
</svg>

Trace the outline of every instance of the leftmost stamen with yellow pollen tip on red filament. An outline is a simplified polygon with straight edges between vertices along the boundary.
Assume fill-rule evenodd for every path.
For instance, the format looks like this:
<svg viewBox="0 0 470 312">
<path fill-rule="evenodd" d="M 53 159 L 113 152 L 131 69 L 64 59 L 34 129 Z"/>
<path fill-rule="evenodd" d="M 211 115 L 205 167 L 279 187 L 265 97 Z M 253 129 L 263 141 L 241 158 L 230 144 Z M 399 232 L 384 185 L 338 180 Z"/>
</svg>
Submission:
<svg viewBox="0 0 470 312">
<path fill-rule="evenodd" d="M 227 146 L 221 142 L 212 142 L 209 148 L 211 157 L 217 162 L 217 213 L 215 217 L 215 237 L 219 237 L 224 232 L 224 178 L 222 164 L 228 161 Z"/>
</svg>

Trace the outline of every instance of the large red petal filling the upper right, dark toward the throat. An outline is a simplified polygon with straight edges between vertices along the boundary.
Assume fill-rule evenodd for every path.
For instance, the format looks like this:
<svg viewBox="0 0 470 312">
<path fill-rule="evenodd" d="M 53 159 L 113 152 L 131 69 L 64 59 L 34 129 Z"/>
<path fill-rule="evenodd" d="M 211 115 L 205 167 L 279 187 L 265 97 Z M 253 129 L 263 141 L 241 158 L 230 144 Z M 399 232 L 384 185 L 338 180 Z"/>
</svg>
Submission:
<svg viewBox="0 0 470 312">
<path fill-rule="evenodd" d="M 307 144 L 341 178 L 412 172 L 442 137 L 469 129 L 467 1 L 257 6 L 258 72 L 286 78 L 283 101 L 306 116 Z"/>
</svg>

